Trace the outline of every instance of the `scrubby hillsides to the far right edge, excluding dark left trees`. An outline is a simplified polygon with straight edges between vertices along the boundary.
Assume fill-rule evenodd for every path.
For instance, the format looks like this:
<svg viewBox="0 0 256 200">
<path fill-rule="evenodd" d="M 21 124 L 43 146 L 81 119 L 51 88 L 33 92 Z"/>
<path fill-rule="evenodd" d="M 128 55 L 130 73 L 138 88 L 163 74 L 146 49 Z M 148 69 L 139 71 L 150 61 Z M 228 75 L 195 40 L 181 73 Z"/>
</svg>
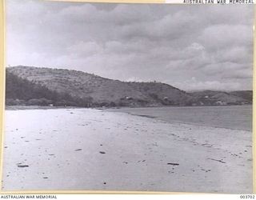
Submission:
<svg viewBox="0 0 256 200">
<path fill-rule="evenodd" d="M 217 101 L 232 104 L 252 102 L 252 91 L 227 93 L 206 90 L 186 93 L 165 83 L 121 82 L 76 70 L 31 66 L 8 67 L 7 70 L 20 78 L 46 86 L 51 91 L 77 98 L 92 98 L 93 102 L 99 104 L 114 102 L 117 106 L 190 106 L 198 102 L 203 102 L 204 105 L 214 105 Z M 132 99 L 127 100 L 126 97 Z"/>
</svg>

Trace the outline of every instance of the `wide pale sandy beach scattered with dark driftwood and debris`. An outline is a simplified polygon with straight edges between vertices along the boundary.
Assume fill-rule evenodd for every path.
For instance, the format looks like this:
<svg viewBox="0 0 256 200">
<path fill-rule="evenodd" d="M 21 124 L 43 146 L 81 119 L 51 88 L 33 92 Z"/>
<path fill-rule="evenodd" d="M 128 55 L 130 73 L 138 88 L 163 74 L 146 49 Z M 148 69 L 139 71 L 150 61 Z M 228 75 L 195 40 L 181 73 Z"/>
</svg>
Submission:
<svg viewBox="0 0 256 200">
<path fill-rule="evenodd" d="M 252 193 L 252 132 L 94 109 L 6 110 L 2 190 Z"/>
</svg>

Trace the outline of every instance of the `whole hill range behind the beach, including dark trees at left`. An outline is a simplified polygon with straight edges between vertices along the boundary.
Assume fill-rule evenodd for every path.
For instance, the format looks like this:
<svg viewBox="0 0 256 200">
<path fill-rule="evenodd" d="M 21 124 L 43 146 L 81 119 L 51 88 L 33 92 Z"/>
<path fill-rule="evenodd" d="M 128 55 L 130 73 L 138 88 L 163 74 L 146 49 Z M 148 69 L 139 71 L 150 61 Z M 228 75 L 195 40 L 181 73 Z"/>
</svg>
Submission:
<svg viewBox="0 0 256 200">
<path fill-rule="evenodd" d="M 161 82 L 121 82 L 76 70 L 6 68 L 7 105 L 45 98 L 43 104 L 53 106 L 211 106 L 251 103 L 250 92 L 186 93 Z"/>
</svg>

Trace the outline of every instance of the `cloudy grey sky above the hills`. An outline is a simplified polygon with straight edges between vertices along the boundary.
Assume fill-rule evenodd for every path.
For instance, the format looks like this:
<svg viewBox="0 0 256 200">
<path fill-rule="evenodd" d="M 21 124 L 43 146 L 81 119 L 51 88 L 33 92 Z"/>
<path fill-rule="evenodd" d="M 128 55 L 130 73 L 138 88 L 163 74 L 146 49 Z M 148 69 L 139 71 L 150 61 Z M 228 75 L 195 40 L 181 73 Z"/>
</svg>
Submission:
<svg viewBox="0 0 256 200">
<path fill-rule="evenodd" d="M 6 65 L 252 90 L 253 6 L 6 1 Z"/>
</svg>

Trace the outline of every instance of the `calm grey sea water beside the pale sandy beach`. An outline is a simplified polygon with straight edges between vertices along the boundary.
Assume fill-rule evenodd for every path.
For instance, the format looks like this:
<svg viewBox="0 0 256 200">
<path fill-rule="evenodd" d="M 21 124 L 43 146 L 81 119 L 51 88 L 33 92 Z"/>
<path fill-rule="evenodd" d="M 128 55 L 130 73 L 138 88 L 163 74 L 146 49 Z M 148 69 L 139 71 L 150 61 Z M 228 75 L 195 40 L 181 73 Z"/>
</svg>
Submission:
<svg viewBox="0 0 256 200">
<path fill-rule="evenodd" d="M 252 106 L 188 106 L 108 109 L 167 122 L 252 131 Z"/>
</svg>

